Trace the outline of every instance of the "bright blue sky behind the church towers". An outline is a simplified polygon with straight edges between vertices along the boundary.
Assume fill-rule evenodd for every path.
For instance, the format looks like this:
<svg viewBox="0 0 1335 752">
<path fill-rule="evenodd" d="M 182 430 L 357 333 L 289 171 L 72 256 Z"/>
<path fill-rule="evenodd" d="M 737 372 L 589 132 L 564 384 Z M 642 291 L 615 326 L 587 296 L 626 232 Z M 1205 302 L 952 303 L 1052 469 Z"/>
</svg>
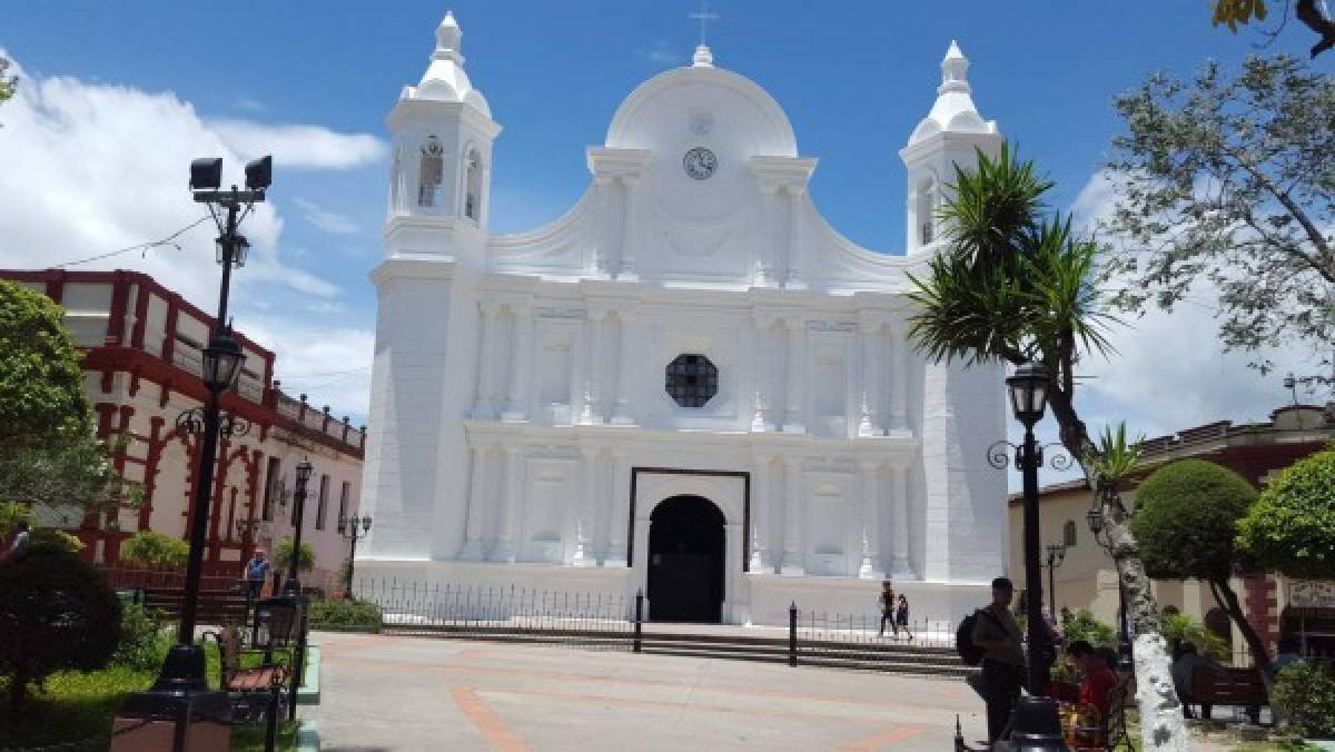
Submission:
<svg viewBox="0 0 1335 752">
<path fill-rule="evenodd" d="M 1185 73 L 1207 57 L 1235 65 L 1262 41 L 1251 29 L 1234 36 L 1211 27 L 1208 0 L 712 5 L 721 16 L 709 31 L 716 64 L 754 79 L 785 107 L 804 155 L 820 158 L 812 195 L 833 226 L 889 252 L 902 251 L 904 236 L 897 151 L 932 104 L 937 65 L 952 39 L 972 61 L 980 111 L 1056 180 L 1053 203 L 1060 208 L 1076 200 L 1105 156 L 1119 126 L 1111 110 L 1116 93 L 1151 71 Z M 287 163 L 275 154 L 272 214 L 256 218 L 260 244 L 271 246 L 268 266 L 258 264 L 251 282 L 243 282 L 252 287 L 239 291 L 236 323 L 272 335 L 280 377 L 290 386 L 360 415 L 374 330 L 374 290 L 366 275 L 379 256 L 386 192 L 382 122 L 399 88 L 425 69 L 434 28 L 449 7 L 396 0 L 243 1 L 226 8 L 28 1 L 17 5 L 21 11 L 11 8 L 0 47 L 23 68 L 36 99 L 27 104 L 31 118 L 23 103 L 0 108 L 0 123 L 15 120 L 0 130 L 0 159 L 5 148 L 11 155 L 32 148 L 20 140 L 28 136 L 52 150 L 51 159 L 101 164 L 107 150 L 124 151 L 129 156 L 121 155 L 119 174 L 92 182 L 103 192 L 89 186 L 80 194 L 80 180 L 71 178 L 45 204 L 95 207 L 108 200 L 107 191 L 147 196 L 158 190 L 150 179 L 179 174 L 182 207 L 180 214 L 163 208 L 140 216 L 139 206 L 107 212 L 84 222 L 81 232 L 51 227 L 49 220 L 44 228 L 15 226 L 19 220 L 0 216 L 0 266 L 59 263 L 167 235 L 194 216 L 184 192 L 190 148 L 204 148 L 220 134 L 232 156 L 248 158 L 271 143 L 300 142 L 302 134 L 284 127 L 310 126 L 328 143 Z M 686 64 L 697 35 L 688 19 L 696 4 L 689 0 L 465 0 L 453 9 L 465 33 L 469 75 L 505 126 L 495 146 L 497 231 L 525 230 L 569 207 L 587 183 L 583 147 L 602 143 L 613 111 L 639 81 Z M 1306 57 L 1310 44 L 1310 33 L 1290 23 L 1271 51 Z M 1327 56 L 1319 69 L 1328 71 L 1331 60 Z M 134 112 L 143 123 L 117 120 L 117 96 L 135 98 Z M 103 132 L 142 139 L 107 143 L 91 135 L 81 151 L 61 152 L 52 144 L 63 130 L 43 116 L 60 111 L 61 102 L 101 107 L 96 118 L 105 123 L 99 126 Z M 79 112 L 65 107 L 69 118 Z M 168 148 L 164 134 L 175 126 L 155 123 L 155 112 L 199 123 L 188 128 L 194 135 L 184 146 Z M 156 139 L 163 139 L 160 148 Z M 174 162 L 147 164 L 168 155 Z M 0 199 L 9 191 L 9 198 L 41 204 L 44 190 L 40 179 L 0 179 Z M 174 195 L 160 200 L 166 206 Z M 129 214 L 136 220 L 123 223 Z M 79 224 L 77 214 L 73 218 Z M 207 243 L 206 235 L 200 243 Z M 199 255 L 198 246 L 175 256 L 162 251 L 166 260 L 125 254 L 103 266 L 168 274 L 211 307 L 216 271 L 180 258 Z M 172 278 L 155 263 L 175 263 L 180 274 Z M 296 282 L 283 278 L 288 274 Z M 199 285 L 191 283 L 195 278 Z M 1153 330 L 1143 334 L 1135 339 L 1153 338 Z M 355 345 L 335 346 L 343 339 Z M 1211 386 L 1212 395 L 1195 402 L 1176 399 L 1168 413 L 1135 405 L 1124 389 L 1092 395 L 1092 410 L 1131 414 L 1157 433 L 1216 417 L 1264 418 L 1283 399 L 1283 390 L 1270 383 L 1276 379 L 1236 375 L 1236 359 L 1218 357 L 1208 331 L 1193 347 L 1208 369 L 1230 374 L 1227 389 Z M 1172 353 L 1136 355 L 1141 361 L 1129 361 L 1153 362 Z M 1196 371 L 1183 369 L 1187 383 L 1179 389 L 1218 381 L 1218 374 Z M 1246 405 L 1239 405 L 1243 398 Z"/>
</svg>

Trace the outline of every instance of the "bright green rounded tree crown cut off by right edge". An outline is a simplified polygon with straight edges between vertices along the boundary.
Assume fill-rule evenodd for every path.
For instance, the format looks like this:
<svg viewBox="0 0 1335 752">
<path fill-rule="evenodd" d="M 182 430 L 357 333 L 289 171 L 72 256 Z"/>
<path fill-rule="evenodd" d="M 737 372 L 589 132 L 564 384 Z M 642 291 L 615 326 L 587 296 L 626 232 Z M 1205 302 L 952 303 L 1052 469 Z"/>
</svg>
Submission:
<svg viewBox="0 0 1335 752">
<path fill-rule="evenodd" d="M 1290 577 L 1335 578 L 1335 451 L 1295 462 L 1238 524 L 1238 546 Z"/>
</svg>

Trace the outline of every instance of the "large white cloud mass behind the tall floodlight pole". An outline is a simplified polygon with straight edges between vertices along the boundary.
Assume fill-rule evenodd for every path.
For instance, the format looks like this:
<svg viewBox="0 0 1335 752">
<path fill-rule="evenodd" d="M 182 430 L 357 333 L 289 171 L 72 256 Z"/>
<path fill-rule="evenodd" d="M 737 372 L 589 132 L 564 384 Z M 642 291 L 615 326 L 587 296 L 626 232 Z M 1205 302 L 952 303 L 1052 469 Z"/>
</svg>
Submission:
<svg viewBox="0 0 1335 752">
<path fill-rule="evenodd" d="M 244 158 L 254 156 L 243 147 L 234 148 L 234 142 L 171 92 L 73 77 L 23 73 L 17 95 L 0 107 L 0 267 L 44 268 L 164 238 L 206 214 L 186 186 L 191 159 L 222 156 L 224 178 L 232 182 L 240 178 Z M 326 146 L 374 152 L 366 146 L 370 136 L 302 128 L 298 131 Z M 232 135 L 238 131 L 246 128 L 234 123 Z M 292 131 L 255 126 L 248 132 Z M 319 156 L 319 148 L 324 147 L 300 156 L 306 166 L 346 166 L 346 159 Z M 283 219 L 272 204 L 258 204 L 242 231 L 251 242 L 251 254 L 232 278 L 238 329 L 278 354 L 279 378 L 290 374 L 290 389 L 306 389 L 312 402 L 360 419 L 368 398 L 372 330 L 330 321 L 342 290 L 294 266 L 300 254 L 280 252 Z M 71 268 L 143 271 L 212 310 L 219 279 L 215 235 L 210 220 L 172 246 Z M 320 309 L 324 313 L 298 314 L 304 317 L 300 319 L 278 313 L 282 307 L 276 303 L 311 298 L 328 303 Z M 311 375 L 350 370 L 324 379 Z"/>
</svg>

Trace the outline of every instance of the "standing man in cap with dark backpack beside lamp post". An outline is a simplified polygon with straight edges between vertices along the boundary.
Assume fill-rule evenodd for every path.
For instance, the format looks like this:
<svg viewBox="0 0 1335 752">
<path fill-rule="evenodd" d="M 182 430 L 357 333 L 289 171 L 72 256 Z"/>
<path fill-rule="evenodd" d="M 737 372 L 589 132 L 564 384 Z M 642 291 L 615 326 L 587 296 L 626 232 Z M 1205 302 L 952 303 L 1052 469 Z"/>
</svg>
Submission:
<svg viewBox="0 0 1335 752">
<path fill-rule="evenodd" d="M 1007 577 L 992 581 L 992 602 L 979 609 L 973 644 L 983 649 L 983 697 L 988 707 L 988 744 L 1005 733 L 1024 684 L 1020 625 L 1011 616 L 1015 585 Z"/>
</svg>

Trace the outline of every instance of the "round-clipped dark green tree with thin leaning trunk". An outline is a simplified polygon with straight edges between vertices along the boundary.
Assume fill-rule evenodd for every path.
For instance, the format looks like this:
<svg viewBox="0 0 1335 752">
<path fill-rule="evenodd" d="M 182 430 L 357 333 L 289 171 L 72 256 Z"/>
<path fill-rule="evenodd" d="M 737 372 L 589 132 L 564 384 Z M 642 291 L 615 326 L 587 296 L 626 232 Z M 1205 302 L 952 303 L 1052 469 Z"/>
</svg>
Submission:
<svg viewBox="0 0 1335 752">
<path fill-rule="evenodd" d="M 1256 502 L 1256 489 L 1238 473 L 1206 462 L 1179 459 L 1159 467 L 1136 489 L 1131 529 L 1151 577 L 1200 580 L 1242 632 L 1252 660 L 1270 673 L 1270 656 L 1247 621 L 1230 580 L 1239 566 L 1238 521 Z"/>
</svg>

